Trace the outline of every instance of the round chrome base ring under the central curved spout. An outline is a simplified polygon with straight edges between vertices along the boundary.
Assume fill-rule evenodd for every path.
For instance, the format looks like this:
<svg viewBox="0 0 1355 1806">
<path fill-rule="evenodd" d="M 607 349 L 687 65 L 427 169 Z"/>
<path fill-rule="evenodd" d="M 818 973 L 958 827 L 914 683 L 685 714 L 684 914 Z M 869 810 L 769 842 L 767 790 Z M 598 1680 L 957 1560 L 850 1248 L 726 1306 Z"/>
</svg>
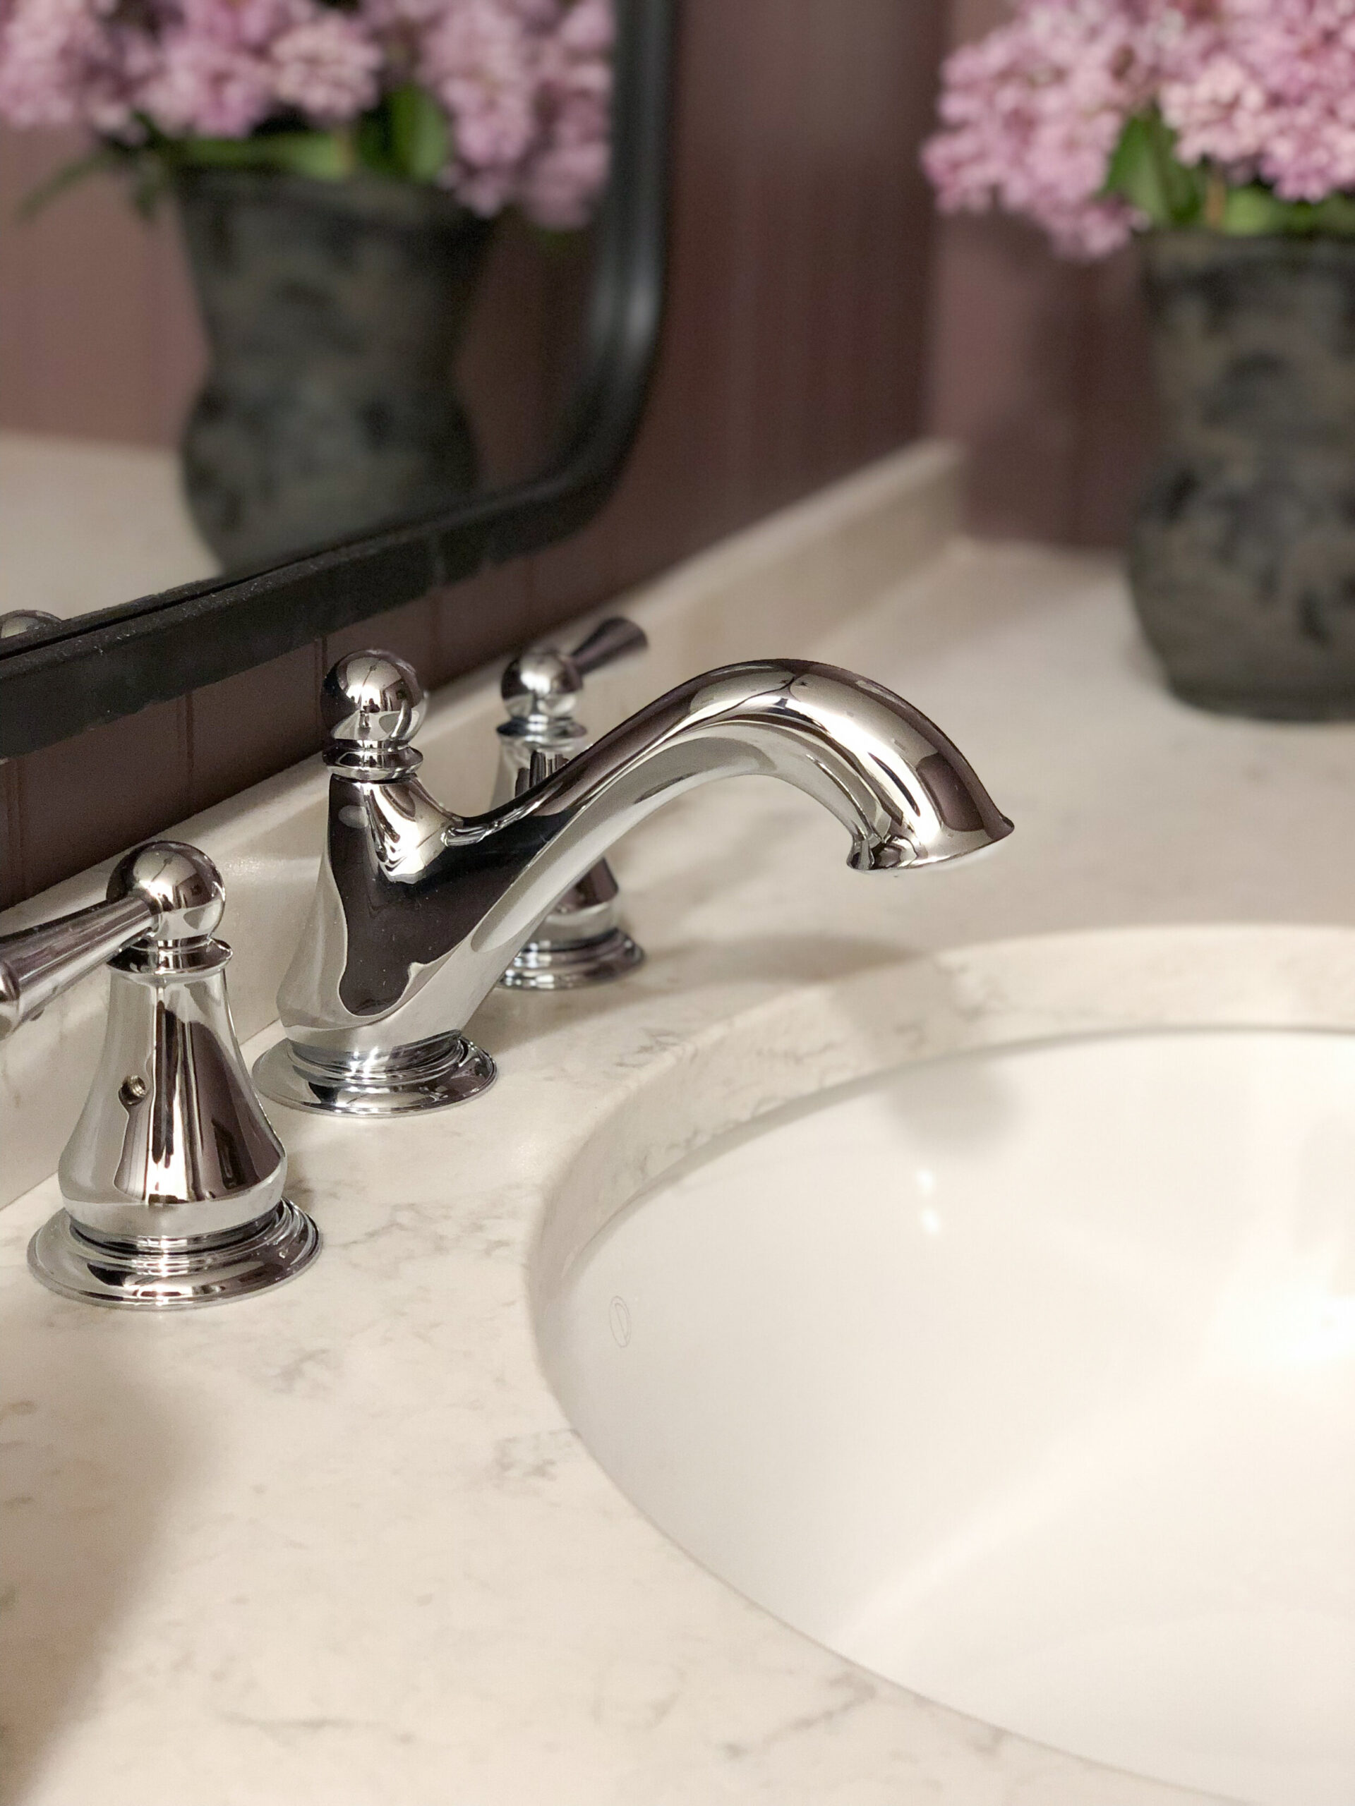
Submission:
<svg viewBox="0 0 1355 1806">
<path fill-rule="evenodd" d="M 464 1035 L 437 1035 L 379 1058 L 336 1062 L 280 1040 L 260 1055 L 253 1076 L 266 1098 L 294 1111 L 408 1116 L 477 1098 L 495 1082 L 497 1067 Z"/>
</svg>

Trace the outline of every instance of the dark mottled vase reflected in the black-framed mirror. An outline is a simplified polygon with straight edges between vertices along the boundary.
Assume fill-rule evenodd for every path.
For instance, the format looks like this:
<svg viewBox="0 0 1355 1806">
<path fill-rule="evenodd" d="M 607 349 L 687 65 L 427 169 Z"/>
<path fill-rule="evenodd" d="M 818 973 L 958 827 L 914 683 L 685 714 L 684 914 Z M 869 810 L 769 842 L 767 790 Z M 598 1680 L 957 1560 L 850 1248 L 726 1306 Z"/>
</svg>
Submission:
<svg viewBox="0 0 1355 1806">
<path fill-rule="evenodd" d="M 182 170 L 210 345 L 182 433 L 226 569 L 434 513 L 475 486 L 452 359 L 493 222 L 416 182 Z"/>
</svg>

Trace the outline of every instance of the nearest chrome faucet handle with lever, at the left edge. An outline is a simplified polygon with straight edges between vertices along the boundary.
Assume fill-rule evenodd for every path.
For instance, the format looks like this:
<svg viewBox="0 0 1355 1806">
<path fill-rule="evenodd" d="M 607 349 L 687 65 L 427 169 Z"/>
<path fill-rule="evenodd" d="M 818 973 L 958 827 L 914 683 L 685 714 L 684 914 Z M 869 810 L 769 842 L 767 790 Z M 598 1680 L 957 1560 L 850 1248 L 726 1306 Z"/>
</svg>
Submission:
<svg viewBox="0 0 1355 1806">
<path fill-rule="evenodd" d="M 58 1165 L 63 1210 L 29 1243 L 52 1291 L 90 1304 L 219 1304 L 291 1279 L 320 1246 L 282 1196 L 287 1156 L 226 999 L 226 889 L 177 840 L 128 852 L 107 901 L 0 939 L 0 1037 L 108 963 L 108 1024 Z"/>
</svg>

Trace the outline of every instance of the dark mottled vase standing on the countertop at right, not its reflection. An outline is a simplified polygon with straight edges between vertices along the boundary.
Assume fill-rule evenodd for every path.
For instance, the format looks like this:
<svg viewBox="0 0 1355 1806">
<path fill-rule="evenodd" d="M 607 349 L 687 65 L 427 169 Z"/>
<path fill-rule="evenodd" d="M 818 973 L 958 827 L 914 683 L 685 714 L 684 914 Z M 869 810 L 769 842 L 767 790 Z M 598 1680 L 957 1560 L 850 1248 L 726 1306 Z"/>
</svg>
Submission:
<svg viewBox="0 0 1355 1806">
<path fill-rule="evenodd" d="M 1144 630 L 1187 703 L 1355 717 L 1355 242 L 1144 240 L 1163 452 Z"/>
</svg>

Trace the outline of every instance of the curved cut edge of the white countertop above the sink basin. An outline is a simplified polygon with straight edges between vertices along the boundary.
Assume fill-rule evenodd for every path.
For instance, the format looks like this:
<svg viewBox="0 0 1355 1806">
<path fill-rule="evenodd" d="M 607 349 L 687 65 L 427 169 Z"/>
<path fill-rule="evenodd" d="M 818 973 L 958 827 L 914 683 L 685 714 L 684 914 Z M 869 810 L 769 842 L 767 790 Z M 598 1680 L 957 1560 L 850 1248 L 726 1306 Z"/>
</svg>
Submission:
<svg viewBox="0 0 1355 1806">
<path fill-rule="evenodd" d="M 1355 925 L 1163 923 L 878 952 L 656 1047 L 573 1143 L 526 1253 L 547 1383 L 540 1326 L 594 1237 L 678 1161 L 773 1111 L 983 1049 L 1163 1029 L 1355 1033 Z"/>
</svg>

